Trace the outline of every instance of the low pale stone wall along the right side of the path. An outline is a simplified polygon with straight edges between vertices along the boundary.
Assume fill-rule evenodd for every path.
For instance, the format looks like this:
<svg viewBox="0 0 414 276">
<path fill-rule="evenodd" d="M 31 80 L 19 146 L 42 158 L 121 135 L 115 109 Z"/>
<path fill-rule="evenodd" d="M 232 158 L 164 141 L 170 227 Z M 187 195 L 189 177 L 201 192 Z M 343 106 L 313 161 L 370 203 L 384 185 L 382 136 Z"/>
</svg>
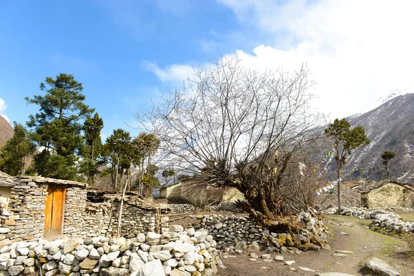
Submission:
<svg viewBox="0 0 414 276">
<path fill-rule="evenodd" d="M 337 213 L 337 208 L 328 208 L 325 211 L 328 215 Z M 384 228 L 396 233 L 414 232 L 414 222 L 402 221 L 399 215 L 380 208 L 342 208 L 341 215 L 358 217 L 359 219 L 371 219 L 372 226 Z"/>
</svg>

